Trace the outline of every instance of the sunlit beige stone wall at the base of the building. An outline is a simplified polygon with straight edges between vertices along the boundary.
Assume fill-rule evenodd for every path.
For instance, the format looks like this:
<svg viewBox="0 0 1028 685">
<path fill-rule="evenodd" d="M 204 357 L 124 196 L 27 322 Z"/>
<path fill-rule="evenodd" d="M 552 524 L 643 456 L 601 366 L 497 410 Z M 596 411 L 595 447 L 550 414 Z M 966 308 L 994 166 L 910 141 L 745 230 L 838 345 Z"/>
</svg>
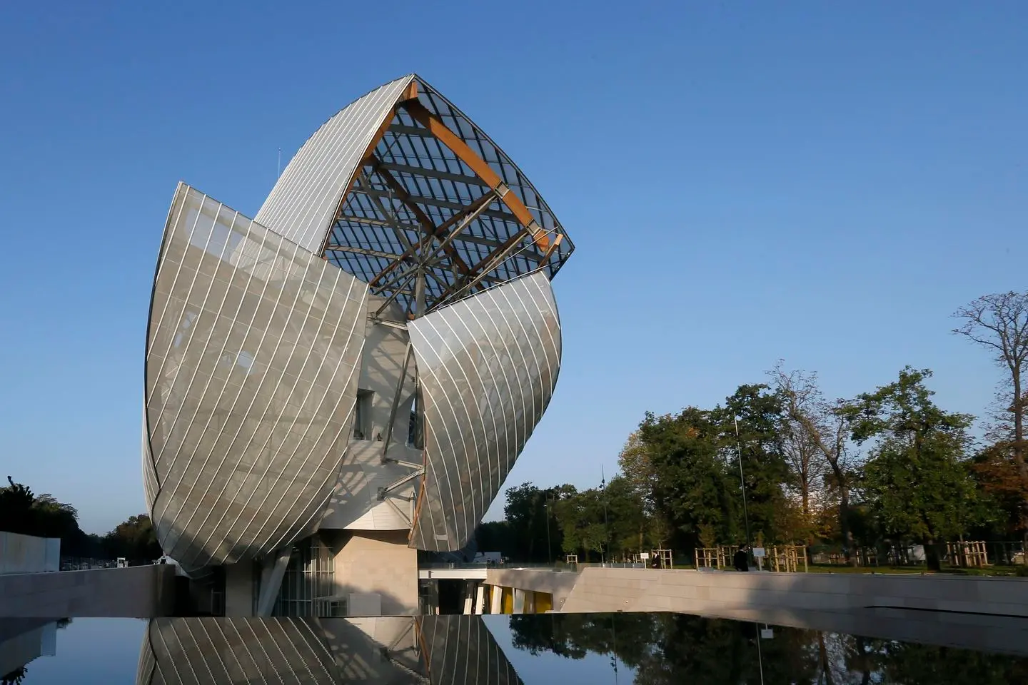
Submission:
<svg viewBox="0 0 1028 685">
<path fill-rule="evenodd" d="M 417 613 L 417 550 L 407 546 L 407 531 L 345 533 L 334 568 L 335 595 L 376 593 L 382 615 Z"/>
</svg>

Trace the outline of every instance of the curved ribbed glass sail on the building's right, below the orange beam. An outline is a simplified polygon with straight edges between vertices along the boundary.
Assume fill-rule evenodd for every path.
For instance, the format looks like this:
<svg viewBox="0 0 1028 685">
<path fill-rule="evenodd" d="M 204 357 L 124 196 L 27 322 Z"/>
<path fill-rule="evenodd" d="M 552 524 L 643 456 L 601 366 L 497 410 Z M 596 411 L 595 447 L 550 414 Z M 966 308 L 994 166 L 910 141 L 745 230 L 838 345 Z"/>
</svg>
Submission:
<svg viewBox="0 0 1028 685">
<path fill-rule="evenodd" d="M 425 403 L 425 482 L 410 543 L 471 538 L 543 416 L 560 369 L 553 290 L 537 271 L 408 326 Z"/>
</svg>

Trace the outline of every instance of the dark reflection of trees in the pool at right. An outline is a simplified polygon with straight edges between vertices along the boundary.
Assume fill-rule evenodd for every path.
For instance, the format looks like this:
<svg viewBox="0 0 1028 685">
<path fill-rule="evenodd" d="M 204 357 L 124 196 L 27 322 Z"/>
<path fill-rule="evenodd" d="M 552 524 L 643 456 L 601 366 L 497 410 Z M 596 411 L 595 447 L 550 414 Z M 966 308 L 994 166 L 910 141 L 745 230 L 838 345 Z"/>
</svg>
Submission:
<svg viewBox="0 0 1028 685">
<path fill-rule="evenodd" d="M 1025 657 L 841 633 L 775 626 L 761 639 L 755 623 L 669 613 L 510 618 L 514 647 L 572 659 L 608 654 L 634 671 L 635 685 L 1028 683 Z"/>
</svg>

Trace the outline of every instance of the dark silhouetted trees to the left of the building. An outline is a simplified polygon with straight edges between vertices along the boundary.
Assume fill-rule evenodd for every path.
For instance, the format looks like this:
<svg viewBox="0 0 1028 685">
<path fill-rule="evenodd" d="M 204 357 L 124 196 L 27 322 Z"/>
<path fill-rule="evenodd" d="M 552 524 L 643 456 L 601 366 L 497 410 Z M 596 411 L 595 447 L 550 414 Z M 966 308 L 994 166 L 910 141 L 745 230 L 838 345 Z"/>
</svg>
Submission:
<svg viewBox="0 0 1028 685">
<path fill-rule="evenodd" d="M 0 488 L 0 531 L 61 538 L 61 556 L 149 562 L 160 557 L 160 545 L 145 513 L 128 517 L 114 530 L 104 534 L 85 533 L 78 525 L 78 510 L 59 502 L 52 495 L 36 495 L 7 477 L 7 487 Z"/>
</svg>

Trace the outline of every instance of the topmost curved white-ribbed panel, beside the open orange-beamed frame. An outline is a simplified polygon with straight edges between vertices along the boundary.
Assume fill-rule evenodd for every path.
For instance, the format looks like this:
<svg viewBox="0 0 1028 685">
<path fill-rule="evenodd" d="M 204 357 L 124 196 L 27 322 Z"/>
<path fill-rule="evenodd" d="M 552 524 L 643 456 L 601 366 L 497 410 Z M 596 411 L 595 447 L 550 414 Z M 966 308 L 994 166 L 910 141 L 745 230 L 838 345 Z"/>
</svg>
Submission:
<svg viewBox="0 0 1028 685">
<path fill-rule="evenodd" d="M 322 124 L 286 166 L 254 221 L 320 253 L 368 145 L 413 80 L 408 74 L 390 81 Z"/>
</svg>

